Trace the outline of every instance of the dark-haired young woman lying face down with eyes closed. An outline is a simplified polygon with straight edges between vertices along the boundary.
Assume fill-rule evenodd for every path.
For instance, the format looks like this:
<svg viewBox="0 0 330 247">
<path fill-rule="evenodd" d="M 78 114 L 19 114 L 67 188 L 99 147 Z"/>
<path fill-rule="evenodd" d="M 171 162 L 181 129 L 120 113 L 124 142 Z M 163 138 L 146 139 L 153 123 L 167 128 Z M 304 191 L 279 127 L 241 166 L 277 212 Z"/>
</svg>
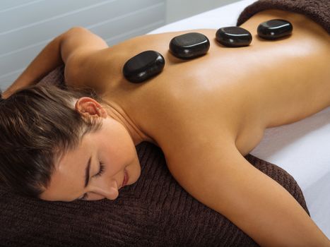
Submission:
<svg viewBox="0 0 330 247">
<path fill-rule="evenodd" d="M 259 23 L 275 18 L 290 21 L 293 35 L 273 42 L 257 37 Z M 59 35 L 2 95 L 7 151 L 0 178 L 43 200 L 114 200 L 139 179 L 135 145 L 148 141 L 161 147 L 188 193 L 261 246 L 330 246 L 290 193 L 244 159 L 265 128 L 329 107 L 329 33 L 302 14 L 275 9 L 240 27 L 252 33 L 249 47 L 223 47 L 216 30 L 194 30 L 211 47 L 189 61 L 173 56 L 168 44 L 190 31 L 113 47 L 84 28 Z M 163 54 L 163 72 L 129 83 L 125 62 L 146 50 Z M 69 88 L 87 86 L 99 97 L 36 84 L 61 64 Z M 8 162 L 20 170 L 4 167 Z M 24 179 L 15 179 L 23 169 Z"/>
</svg>

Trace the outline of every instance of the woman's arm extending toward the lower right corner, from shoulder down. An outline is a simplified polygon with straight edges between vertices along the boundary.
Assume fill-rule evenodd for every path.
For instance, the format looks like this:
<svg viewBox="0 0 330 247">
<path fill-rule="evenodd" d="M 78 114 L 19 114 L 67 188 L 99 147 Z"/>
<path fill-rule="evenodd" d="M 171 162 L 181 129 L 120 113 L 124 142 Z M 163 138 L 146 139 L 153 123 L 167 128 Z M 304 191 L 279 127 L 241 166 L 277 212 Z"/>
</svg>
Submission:
<svg viewBox="0 0 330 247">
<path fill-rule="evenodd" d="M 167 163 L 172 175 L 196 200 L 225 215 L 259 245 L 330 246 L 295 198 L 249 164 L 235 144 L 223 141 L 195 151 L 180 155 L 189 157 L 186 161 Z"/>
</svg>

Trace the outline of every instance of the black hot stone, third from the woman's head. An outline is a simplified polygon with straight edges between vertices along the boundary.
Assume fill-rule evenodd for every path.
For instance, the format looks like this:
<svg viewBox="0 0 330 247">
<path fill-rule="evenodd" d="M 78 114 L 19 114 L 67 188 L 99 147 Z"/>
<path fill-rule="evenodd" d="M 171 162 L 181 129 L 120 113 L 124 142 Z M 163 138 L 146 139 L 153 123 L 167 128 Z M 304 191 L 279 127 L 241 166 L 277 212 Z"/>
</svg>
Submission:
<svg viewBox="0 0 330 247">
<path fill-rule="evenodd" d="M 226 47 L 247 47 L 252 42 L 252 35 L 244 28 L 226 27 L 216 31 L 216 40 Z"/>
</svg>

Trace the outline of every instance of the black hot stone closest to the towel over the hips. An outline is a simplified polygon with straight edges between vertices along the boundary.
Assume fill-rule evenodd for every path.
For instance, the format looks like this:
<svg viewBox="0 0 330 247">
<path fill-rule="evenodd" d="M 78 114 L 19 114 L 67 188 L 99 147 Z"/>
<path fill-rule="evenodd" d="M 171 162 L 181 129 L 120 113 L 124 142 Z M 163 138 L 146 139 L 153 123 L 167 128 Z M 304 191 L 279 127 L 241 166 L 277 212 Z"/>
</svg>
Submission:
<svg viewBox="0 0 330 247">
<path fill-rule="evenodd" d="M 260 23 L 257 32 L 265 40 L 276 40 L 290 35 L 292 30 L 293 25 L 288 20 L 273 19 Z"/>
</svg>

